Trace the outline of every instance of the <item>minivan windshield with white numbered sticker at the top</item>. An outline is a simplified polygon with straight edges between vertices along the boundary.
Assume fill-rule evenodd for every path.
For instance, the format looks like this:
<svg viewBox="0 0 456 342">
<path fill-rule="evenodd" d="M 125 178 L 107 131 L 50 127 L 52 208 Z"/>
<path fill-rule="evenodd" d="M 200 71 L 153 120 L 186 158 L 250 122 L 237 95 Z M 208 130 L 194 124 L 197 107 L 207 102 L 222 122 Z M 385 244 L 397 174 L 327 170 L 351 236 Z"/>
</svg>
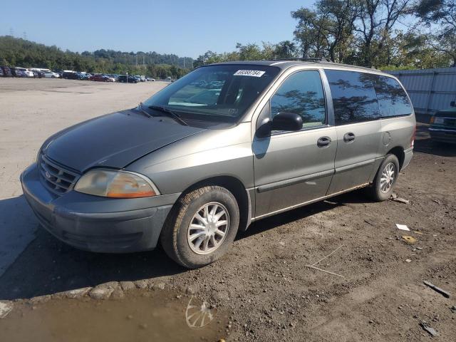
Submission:
<svg viewBox="0 0 456 342">
<path fill-rule="evenodd" d="M 273 66 L 219 65 L 198 68 L 145 101 L 183 119 L 236 122 L 279 73 Z"/>
</svg>

